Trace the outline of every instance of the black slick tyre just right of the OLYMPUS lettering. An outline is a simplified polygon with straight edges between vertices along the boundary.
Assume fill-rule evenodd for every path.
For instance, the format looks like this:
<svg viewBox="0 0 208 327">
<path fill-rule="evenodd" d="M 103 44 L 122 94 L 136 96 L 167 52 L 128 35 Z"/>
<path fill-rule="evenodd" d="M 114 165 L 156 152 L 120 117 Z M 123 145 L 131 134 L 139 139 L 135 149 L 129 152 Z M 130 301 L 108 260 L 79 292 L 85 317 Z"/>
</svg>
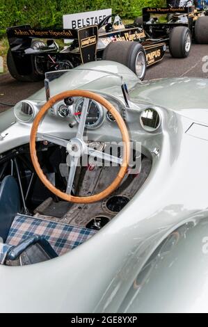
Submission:
<svg viewBox="0 0 208 327">
<path fill-rule="evenodd" d="M 188 27 L 177 26 L 170 31 L 169 49 L 173 58 L 186 58 L 191 51 L 191 31 Z"/>
</svg>

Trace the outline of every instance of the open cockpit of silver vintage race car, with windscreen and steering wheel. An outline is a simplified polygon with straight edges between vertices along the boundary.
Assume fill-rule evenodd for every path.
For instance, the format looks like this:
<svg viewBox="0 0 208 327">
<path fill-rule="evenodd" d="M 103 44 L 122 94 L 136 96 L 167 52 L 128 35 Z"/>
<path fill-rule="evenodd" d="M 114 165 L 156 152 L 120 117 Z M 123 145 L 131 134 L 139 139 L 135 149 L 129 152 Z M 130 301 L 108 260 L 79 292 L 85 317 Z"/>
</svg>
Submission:
<svg viewBox="0 0 208 327">
<path fill-rule="evenodd" d="M 1 131 L 1 264 L 72 250 L 143 186 L 158 150 L 142 150 L 141 137 L 160 137 L 161 109 L 138 108 L 129 89 L 141 82 L 120 69 L 49 72 L 45 92 L 15 105 L 15 124 Z"/>
</svg>

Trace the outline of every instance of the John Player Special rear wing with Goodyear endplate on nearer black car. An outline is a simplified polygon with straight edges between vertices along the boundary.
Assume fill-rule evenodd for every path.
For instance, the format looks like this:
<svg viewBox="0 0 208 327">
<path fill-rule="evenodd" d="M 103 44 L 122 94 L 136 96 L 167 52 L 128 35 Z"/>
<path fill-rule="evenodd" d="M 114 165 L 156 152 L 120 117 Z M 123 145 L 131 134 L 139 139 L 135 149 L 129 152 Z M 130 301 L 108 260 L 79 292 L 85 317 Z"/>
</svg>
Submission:
<svg viewBox="0 0 208 327">
<path fill-rule="evenodd" d="M 82 63 L 94 61 L 97 51 L 97 25 L 82 29 L 33 29 L 30 25 L 9 27 L 7 30 L 8 42 L 12 52 L 26 54 L 34 38 L 56 40 L 78 40 Z M 31 51 L 30 53 L 31 54 Z"/>
</svg>

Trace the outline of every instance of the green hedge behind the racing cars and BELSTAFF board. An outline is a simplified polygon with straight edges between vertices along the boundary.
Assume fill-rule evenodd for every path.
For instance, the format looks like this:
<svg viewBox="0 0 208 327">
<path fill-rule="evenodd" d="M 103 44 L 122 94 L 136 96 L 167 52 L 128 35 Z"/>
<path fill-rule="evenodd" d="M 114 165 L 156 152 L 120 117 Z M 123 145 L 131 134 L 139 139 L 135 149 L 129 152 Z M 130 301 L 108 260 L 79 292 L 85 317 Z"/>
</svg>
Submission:
<svg viewBox="0 0 208 327">
<path fill-rule="evenodd" d="M 31 24 L 33 27 L 58 28 L 62 15 L 112 8 L 122 18 L 141 15 L 144 6 L 163 6 L 164 0 L 0 0 L 0 36 L 6 27 Z"/>
</svg>

